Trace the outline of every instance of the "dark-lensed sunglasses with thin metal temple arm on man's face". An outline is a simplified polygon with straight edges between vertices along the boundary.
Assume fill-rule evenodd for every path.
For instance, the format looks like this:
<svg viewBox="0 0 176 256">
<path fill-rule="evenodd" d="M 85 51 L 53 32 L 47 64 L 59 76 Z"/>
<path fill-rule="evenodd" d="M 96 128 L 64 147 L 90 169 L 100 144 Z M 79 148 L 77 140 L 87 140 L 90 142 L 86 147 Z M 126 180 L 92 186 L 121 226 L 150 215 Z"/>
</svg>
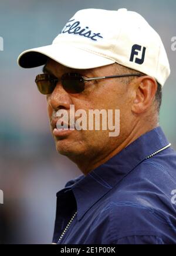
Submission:
<svg viewBox="0 0 176 256">
<path fill-rule="evenodd" d="M 36 76 L 35 82 L 41 92 L 41 94 L 52 94 L 58 81 L 61 82 L 62 87 L 69 94 L 79 94 L 85 89 L 86 82 L 107 78 L 118 78 L 118 77 L 141 77 L 141 74 L 124 74 L 124 75 L 110 75 L 107 77 L 94 77 L 84 78 L 82 75 L 77 73 L 63 74 L 60 79 L 53 77 L 50 74 L 40 74 Z"/>
</svg>

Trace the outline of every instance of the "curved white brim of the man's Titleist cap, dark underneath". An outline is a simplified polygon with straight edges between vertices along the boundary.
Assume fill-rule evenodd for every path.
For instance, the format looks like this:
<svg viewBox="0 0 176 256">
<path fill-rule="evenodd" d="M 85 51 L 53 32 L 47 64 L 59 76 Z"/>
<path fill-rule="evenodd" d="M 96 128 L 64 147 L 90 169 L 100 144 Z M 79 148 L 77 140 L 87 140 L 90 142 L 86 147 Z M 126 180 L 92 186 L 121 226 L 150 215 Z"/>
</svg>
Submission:
<svg viewBox="0 0 176 256">
<path fill-rule="evenodd" d="M 35 68 L 45 65 L 48 58 L 75 69 L 103 67 L 115 61 L 66 44 L 53 44 L 33 48 L 22 52 L 18 57 L 18 65 L 22 68 Z"/>
</svg>

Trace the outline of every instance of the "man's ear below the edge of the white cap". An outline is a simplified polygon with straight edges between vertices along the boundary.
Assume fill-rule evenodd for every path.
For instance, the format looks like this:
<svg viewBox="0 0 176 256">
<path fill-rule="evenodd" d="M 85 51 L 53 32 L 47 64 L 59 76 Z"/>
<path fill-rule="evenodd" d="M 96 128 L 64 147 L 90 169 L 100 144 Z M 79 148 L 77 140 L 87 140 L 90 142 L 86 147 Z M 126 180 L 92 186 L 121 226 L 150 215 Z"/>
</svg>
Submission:
<svg viewBox="0 0 176 256">
<path fill-rule="evenodd" d="M 137 78 L 135 81 L 135 96 L 131 105 L 131 111 L 135 114 L 141 114 L 147 111 L 153 104 L 158 85 L 153 77 L 147 75 Z"/>
</svg>

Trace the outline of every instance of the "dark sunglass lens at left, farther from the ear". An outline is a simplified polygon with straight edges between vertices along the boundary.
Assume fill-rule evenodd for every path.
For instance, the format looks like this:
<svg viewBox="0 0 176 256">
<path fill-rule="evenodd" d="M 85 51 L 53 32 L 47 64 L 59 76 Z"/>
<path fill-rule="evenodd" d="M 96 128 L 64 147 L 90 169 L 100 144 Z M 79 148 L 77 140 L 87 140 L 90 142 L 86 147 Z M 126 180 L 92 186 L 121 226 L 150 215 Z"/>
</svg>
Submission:
<svg viewBox="0 0 176 256">
<path fill-rule="evenodd" d="M 50 79 L 48 74 L 38 75 L 35 82 L 41 94 L 51 94 L 55 89 L 55 82 Z"/>
</svg>

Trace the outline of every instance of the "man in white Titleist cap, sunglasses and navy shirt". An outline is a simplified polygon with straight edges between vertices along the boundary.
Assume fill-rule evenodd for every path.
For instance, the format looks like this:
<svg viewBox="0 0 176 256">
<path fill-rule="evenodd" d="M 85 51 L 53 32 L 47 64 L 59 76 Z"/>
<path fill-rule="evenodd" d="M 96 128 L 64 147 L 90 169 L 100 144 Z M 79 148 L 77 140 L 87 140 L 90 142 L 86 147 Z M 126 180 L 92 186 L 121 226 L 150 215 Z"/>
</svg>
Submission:
<svg viewBox="0 0 176 256">
<path fill-rule="evenodd" d="M 57 193 L 53 243 L 175 244 L 176 155 L 158 124 L 170 67 L 157 32 L 127 9 L 85 9 L 18 64 L 45 65 L 36 84 L 56 149 L 83 172 Z M 103 124 L 76 129 L 78 117 L 71 124 L 60 115 L 72 106 L 86 114 L 119 109 L 118 136 Z"/>
</svg>

